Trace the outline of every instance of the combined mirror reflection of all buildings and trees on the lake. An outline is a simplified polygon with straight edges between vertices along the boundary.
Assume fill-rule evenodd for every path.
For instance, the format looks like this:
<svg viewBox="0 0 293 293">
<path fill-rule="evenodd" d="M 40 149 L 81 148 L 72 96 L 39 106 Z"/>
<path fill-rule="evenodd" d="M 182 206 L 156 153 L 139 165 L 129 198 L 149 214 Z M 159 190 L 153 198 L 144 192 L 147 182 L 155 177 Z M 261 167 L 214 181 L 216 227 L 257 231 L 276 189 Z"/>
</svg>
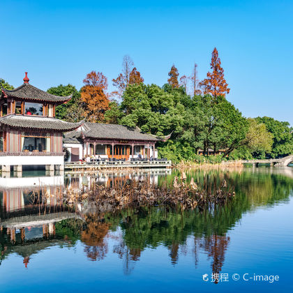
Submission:
<svg viewBox="0 0 293 293">
<path fill-rule="evenodd" d="M 117 255 L 123 260 L 123 272 L 129 275 L 144 250 L 164 246 L 173 266 L 181 255 L 190 252 L 197 266 L 199 254 L 204 253 L 211 271 L 220 273 L 230 245 L 229 231 L 243 213 L 288 201 L 293 190 L 293 170 L 193 170 L 188 172 L 188 180 L 194 178 L 201 183 L 206 176 L 215 174 L 219 181 L 225 179 L 234 184 L 236 197 L 226 206 L 204 211 L 145 207 L 116 213 L 88 213 L 63 204 L 66 188 L 90 190 L 96 184 L 119 186 L 133 178 L 160 185 L 165 180 L 172 183 L 178 171 L 68 174 L 65 180 L 63 176 L 0 179 L 1 262 L 17 253 L 22 256 L 24 266 L 29 267 L 31 255 L 45 248 L 82 243 L 88 260 L 100 261 L 109 254 Z"/>
</svg>

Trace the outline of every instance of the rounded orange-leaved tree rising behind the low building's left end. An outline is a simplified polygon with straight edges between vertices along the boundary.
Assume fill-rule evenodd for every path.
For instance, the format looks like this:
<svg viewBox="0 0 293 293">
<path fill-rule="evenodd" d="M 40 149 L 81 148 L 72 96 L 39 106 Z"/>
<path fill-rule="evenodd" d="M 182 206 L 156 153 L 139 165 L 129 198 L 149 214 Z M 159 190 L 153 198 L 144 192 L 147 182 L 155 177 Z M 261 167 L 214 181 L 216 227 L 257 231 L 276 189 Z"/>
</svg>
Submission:
<svg viewBox="0 0 293 293">
<path fill-rule="evenodd" d="M 107 77 L 103 73 L 91 71 L 84 79 L 81 89 L 82 101 L 85 104 L 85 116 L 90 122 L 103 122 L 104 113 L 109 109 Z"/>
</svg>

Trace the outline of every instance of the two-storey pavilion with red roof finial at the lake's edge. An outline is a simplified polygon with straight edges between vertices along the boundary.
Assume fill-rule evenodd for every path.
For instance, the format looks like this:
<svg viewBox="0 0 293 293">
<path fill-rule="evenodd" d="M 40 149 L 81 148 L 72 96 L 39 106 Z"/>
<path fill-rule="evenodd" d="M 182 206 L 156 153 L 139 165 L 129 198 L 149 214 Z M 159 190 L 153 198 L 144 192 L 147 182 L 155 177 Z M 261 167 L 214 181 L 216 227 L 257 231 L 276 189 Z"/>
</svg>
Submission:
<svg viewBox="0 0 293 293">
<path fill-rule="evenodd" d="M 17 89 L 1 89 L 0 96 L 0 165 L 22 171 L 23 165 L 45 165 L 47 170 L 63 170 L 63 133 L 82 123 L 68 123 L 55 118 L 58 105 L 71 96 L 54 96 L 29 84 Z"/>
</svg>

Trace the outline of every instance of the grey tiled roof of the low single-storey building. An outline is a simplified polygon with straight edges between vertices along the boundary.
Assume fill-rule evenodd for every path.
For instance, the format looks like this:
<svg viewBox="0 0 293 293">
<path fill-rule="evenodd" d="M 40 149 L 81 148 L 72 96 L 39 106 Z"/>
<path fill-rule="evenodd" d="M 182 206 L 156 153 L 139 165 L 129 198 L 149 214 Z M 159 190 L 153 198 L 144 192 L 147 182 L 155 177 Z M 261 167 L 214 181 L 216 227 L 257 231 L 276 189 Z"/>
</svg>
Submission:
<svg viewBox="0 0 293 293">
<path fill-rule="evenodd" d="M 95 138 L 101 140 L 144 140 L 144 141 L 158 141 L 154 135 L 142 133 L 139 128 L 129 128 L 119 124 L 105 124 L 105 123 L 89 123 L 83 124 L 80 131 L 67 133 L 66 143 L 70 140 L 73 142 L 77 137 Z M 77 142 L 75 142 L 77 143 Z"/>
</svg>

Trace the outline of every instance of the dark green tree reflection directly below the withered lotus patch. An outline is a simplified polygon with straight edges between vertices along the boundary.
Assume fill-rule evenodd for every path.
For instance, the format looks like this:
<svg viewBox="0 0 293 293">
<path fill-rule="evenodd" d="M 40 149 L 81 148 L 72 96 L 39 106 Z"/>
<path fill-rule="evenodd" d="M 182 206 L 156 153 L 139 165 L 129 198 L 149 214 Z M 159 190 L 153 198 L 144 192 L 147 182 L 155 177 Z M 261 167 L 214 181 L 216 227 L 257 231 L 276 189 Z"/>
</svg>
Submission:
<svg viewBox="0 0 293 293">
<path fill-rule="evenodd" d="M 213 211 L 195 210 L 180 213 L 165 209 L 142 208 L 127 213 L 122 212 L 120 216 L 123 218 L 120 225 L 123 239 L 117 246 L 114 246 L 114 253 L 123 258 L 126 263 L 125 267 L 128 268 L 129 261 L 139 260 L 144 248 L 156 248 L 163 244 L 170 250 L 172 264 L 176 264 L 179 254 L 187 253 L 186 239 L 190 234 L 194 234 L 195 239 L 199 239 L 199 241 L 195 241 L 195 262 L 197 263 L 198 248 L 206 250 L 210 245 L 213 246 L 210 252 L 214 257 L 213 266 L 220 268 L 223 265 L 228 239 L 225 244 L 225 239 L 221 239 L 223 236 L 217 235 L 225 235 L 229 227 L 239 218 L 238 211 L 234 213 L 232 208 L 233 206 L 222 206 Z"/>
</svg>

